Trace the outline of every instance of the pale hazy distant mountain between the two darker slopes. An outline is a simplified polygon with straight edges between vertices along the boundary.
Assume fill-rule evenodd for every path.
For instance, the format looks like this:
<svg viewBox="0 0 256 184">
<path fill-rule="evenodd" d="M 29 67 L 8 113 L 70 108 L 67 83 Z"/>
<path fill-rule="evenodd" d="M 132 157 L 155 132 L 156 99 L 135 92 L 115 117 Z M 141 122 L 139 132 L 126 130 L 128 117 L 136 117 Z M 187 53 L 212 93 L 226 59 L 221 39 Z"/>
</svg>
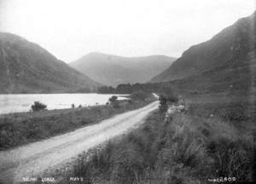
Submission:
<svg viewBox="0 0 256 184">
<path fill-rule="evenodd" d="M 70 66 L 100 83 L 116 86 L 119 83 L 148 82 L 174 60 L 165 55 L 121 57 L 94 52 L 73 61 Z"/>
</svg>

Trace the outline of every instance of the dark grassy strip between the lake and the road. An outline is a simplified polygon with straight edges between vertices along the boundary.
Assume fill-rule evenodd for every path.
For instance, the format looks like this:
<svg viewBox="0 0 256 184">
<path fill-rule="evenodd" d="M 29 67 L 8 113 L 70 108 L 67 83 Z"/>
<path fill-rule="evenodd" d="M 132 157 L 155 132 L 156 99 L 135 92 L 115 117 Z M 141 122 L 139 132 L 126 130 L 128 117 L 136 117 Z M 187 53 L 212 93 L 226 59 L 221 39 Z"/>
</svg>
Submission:
<svg viewBox="0 0 256 184">
<path fill-rule="evenodd" d="M 96 124 L 115 114 L 145 106 L 151 101 L 154 101 L 152 95 L 133 94 L 130 101 L 118 101 L 114 103 L 114 106 L 109 104 L 90 108 L 2 115 L 0 116 L 0 150 L 43 140 L 89 124 Z"/>
</svg>

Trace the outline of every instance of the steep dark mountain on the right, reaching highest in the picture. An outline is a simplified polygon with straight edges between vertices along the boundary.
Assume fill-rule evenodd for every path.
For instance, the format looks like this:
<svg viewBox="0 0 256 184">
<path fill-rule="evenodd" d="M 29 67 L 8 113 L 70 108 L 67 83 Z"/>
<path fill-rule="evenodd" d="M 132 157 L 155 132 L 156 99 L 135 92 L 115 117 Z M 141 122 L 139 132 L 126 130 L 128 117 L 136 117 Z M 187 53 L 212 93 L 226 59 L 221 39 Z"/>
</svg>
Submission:
<svg viewBox="0 0 256 184">
<path fill-rule="evenodd" d="M 242 78 L 255 78 L 255 25 L 255 13 L 237 20 L 207 42 L 190 47 L 172 66 L 150 82 L 182 78 L 200 78 L 201 81 L 211 82 L 210 78 L 222 78 L 230 83 L 232 80 L 247 83 Z"/>
</svg>

